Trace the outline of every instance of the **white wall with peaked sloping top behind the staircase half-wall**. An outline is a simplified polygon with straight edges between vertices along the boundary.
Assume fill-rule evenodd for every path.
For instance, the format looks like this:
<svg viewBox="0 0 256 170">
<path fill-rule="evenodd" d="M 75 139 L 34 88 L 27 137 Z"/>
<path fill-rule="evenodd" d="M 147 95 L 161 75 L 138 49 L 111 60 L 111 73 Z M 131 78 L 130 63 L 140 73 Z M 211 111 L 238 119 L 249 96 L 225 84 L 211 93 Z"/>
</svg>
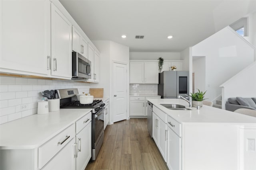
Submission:
<svg viewBox="0 0 256 170">
<path fill-rule="evenodd" d="M 206 56 L 208 100 L 221 94 L 221 84 L 254 61 L 254 47 L 225 27 L 192 47 L 192 56 Z"/>
</svg>

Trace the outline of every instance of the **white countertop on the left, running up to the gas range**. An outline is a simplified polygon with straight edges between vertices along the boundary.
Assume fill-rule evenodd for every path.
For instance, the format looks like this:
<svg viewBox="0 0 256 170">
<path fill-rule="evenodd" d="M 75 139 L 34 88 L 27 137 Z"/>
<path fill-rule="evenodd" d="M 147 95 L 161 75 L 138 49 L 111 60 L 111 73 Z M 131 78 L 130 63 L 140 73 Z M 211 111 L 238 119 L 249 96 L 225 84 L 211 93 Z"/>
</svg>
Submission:
<svg viewBox="0 0 256 170">
<path fill-rule="evenodd" d="M 92 109 L 60 109 L 0 125 L 0 149 L 34 149 L 75 123 Z"/>
</svg>

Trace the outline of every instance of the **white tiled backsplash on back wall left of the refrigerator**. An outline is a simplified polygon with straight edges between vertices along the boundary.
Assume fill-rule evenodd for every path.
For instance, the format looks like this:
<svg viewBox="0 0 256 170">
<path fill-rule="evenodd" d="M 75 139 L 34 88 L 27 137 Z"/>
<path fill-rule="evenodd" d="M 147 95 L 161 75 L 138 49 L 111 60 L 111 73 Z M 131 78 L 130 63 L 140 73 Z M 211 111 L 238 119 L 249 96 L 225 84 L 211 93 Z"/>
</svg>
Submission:
<svg viewBox="0 0 256 170">
<path fill-rule="evenodd" d="M 130 94 L 157 94 L 157 84 L 130 84 Z"/>
</svg>

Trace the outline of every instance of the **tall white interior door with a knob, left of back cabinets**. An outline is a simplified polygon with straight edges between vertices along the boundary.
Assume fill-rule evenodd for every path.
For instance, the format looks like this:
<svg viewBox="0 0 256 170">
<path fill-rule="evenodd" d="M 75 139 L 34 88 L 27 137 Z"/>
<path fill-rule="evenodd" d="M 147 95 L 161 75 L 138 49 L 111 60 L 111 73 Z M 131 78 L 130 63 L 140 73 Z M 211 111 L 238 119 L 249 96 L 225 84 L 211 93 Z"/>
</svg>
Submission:
<svg viewBox="0 0 256 170">
<path fill-rule="evenodd" d="M 113 68 L 113 122 L 127 116 L 127 66 L 114 63 Z"/>
</svg>

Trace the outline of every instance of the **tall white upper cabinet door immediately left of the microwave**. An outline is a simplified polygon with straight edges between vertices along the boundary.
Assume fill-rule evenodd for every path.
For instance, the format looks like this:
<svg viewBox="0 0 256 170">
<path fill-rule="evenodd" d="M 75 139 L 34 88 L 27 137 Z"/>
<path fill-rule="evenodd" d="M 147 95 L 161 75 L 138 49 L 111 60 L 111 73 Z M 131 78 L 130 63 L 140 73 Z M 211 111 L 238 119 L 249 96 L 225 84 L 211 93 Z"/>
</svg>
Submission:
<svg viewBox="0 0 256 170">
<path fill-rule="evenodd" d="M 71 78 L 72 24 L 52 3 L 51 33 L 51 73 L 54 76 Z"/>
</svg>

